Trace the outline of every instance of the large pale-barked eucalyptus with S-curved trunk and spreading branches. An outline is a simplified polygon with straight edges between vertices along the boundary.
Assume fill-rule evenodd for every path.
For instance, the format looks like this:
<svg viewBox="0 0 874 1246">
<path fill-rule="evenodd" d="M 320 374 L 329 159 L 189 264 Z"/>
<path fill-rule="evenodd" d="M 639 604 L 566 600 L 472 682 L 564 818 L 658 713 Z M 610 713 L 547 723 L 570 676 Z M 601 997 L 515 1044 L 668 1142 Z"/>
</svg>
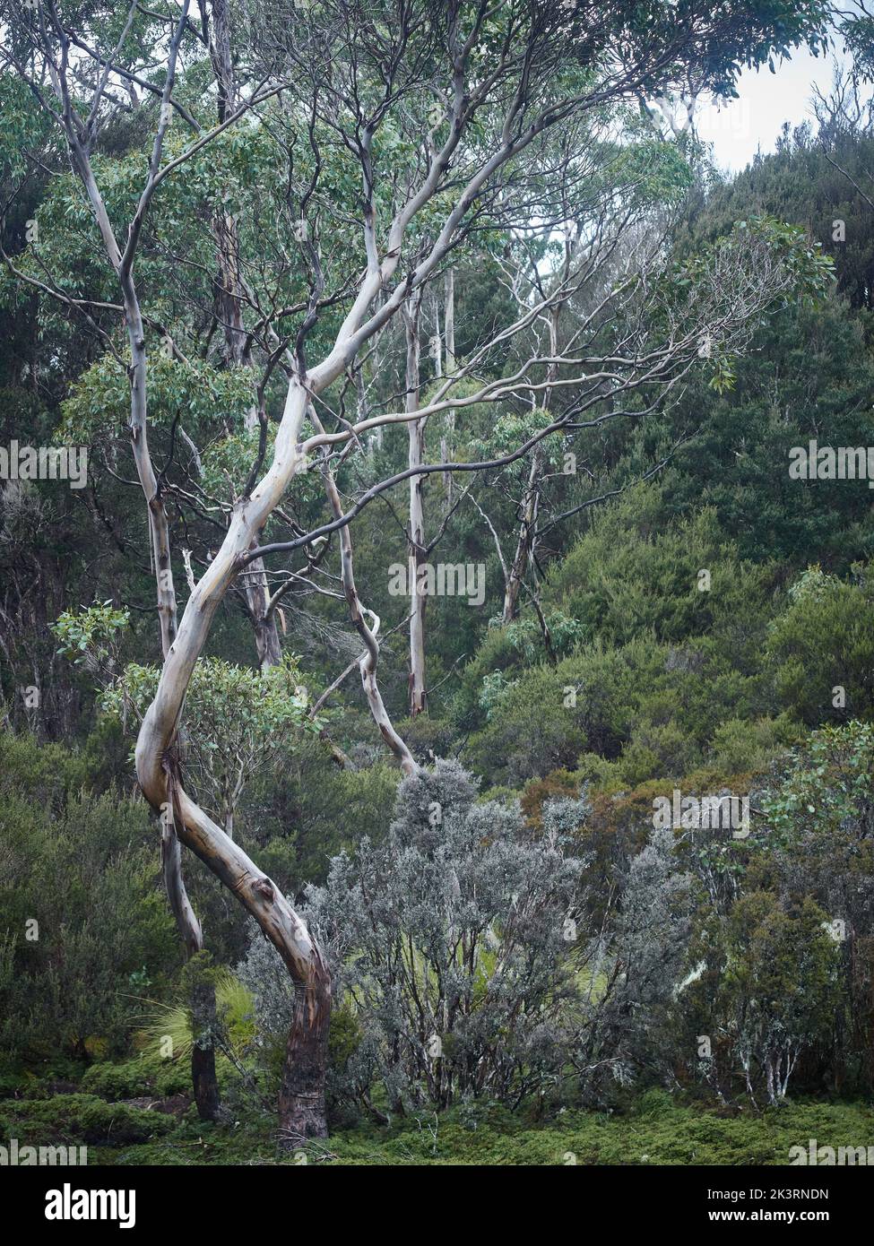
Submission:
<svg viewBox="0 0 874 1246">
<path fill-rule="evenodd" d="M 728 90 L 743 65 L 818 40 L 824 5 L 243 0 L 229 27 L 241 103 L 212 125 L 196 116 L 204 101 L 196 91 L 199 50 L 193 47 L 187 0 L 168 9 L 163 21 L 136 4 L 116 14 L 101 5 L 55 0 L 4 0 L 0 17 L 5 71 L 30 86 L 52 120 L 94 212 L 117 294 L 81 299 L 52 280 L 22 275 L 42 295 L 60 299 L 100 328 L 95 313 L 102 318 L 121 312 L 126 328 L 125 351 L 111 329 L 102 331 L 130 379 L 131 446 L 148 505 L 165 653 L 136 745 L 140 786 L 156 810 L 172 810 L 178 840 L 233 891 L 279 951 L 294 982 L 281 1123 L 293 1141 L 322 1135 L 330 1014 L 325 958 L 276 883 L 185 786 L 178 736 L 186 692 L 216 613 L 259 559 L 269 568 L 279 554 L 297 552 L 303 564 L 282 563 L 279 577 L 308 578 L 319 538 L 343 532 L 343 596 L 357 629 L 362 624 L 368 633 L 359 633 L 369 654 L 360 673 L 378 713 L 377 622 L 363 623 L 367 608 L 352 587 L 348 526 L 355 515 L 414 476 L 496 470 L 521 460 L 565 425 L 615 417 L 628 394 L 666 384 L 699 358 L 704 328 L 713 364 L 723 366 L 744 324 L 769 300 L 784 297 L 799 279 L 815 287 L 823 273 L 813 250 L 767 222 L 753 224 L 697 267 L 661 274 L 643 297 L 625 292 L 635 309 L 632 324 L 635 316 L 652 316 L 643 335 L 620 333 L 607 350 L 592 341 L 591 349 L 555 353 L 535 341 L 512 370 L 499 369 L 500 375 L 484 379 L 478 373 L 483 361 L 494 364 L 495 356 L 506 355 L 509 341 L 549 314 L 566 294 L 560 285 L 559 293 L 549 289 L 534 297 L 415 411 L 406 404 L 393 410 L 385 401 L 364 419 L 345 415 L 345 394 L 357 388 L 362 359 L 383 330 L 400 321 L 409 300 L 451 263 L 454 250 L 484 221 L 501 228 L 536 211 L 537 187 L 549 178 L 550 132 L 621 100 L 683 88 L 689 75 Z M 178 69 L 186 57 L 192 60 L 191 74 L 182 78 Z M 137 117 L 150 126 L 151 137 L 132 211 L 125 212 L 123 204 L 110 208 L 111 179 L 103 178 L 101 187 L 101 161 L 95 157 L 106 126 L 133 108 L 135 90 L 153 96 L 158 107 Z M 429 121 L 435 102 L 439 115 Z M 171 148 L 173 118 L 190 133 Z M 232 132 L 241 150 L 263 143 L 268 182 L 284 183 L 284 193 L 269 204 L 269 219 L 264 213 L 258 221 L 263 235 L 249 239 L 252 265 L 267 278 L 259 292 L 247 293 L 243 309 L 259 355 L 258 435 L 242 485 L 233 490 L 227 528 L 217 533 L 199 578 L 192 569 L 190 596 L 177 616 L 165 473 L 156 471 L 150 454 L 146 390 L 150 345 L 160 349 L 166 326 L 160 314 L 143 314 L 135 268 L 147 222 L 160 227 L 170 211 L 165 192 L 185 182 L 213 143 L 226 137 L 231 142 Z M 252 193 L 257 197 L 258 187 Z M 246 231 L 241 221 L 242 238 Z M 175 262 L 182 273 L 188 270 L 183 257 Z M 282 275 L 293 273 L 294 282 L 271 282 L 274 268 Z M 289 285 L 299 297 L 286 302 Z M 738 288 L 742 298 L 736 304 Z M 176 354 L 172 341 L 168 349 Z M 473 384 L 461 386 L 460 380 Z M 284 392 L 271 420 L 269 399 L 279 383 Z M 536 402 L 552 390 L 572 390 L 576 397 L 531 435 L 521 434 L 506 454 L 408 466 L 368 485 L 337 513 L 342 498 L 330 492 L 332 471 L 360 452 L 362 437 L 374 430 L 449 412 L 458 420 L 481 404 Z M 596 415 L 605 400 L 612 410 Z M 314 456 L 320 476 L 310 471 Z M 300 523 L 288 507 L 319 480 L 328 486 L 332 517 Z M 272 538 L 277 533 L 268 525 L 277 520 L 292 528 L 287 540 Z M 393 743 L 388 725 L 380 724 Z M 401 744 L 394 741 L 395 749 Z M 413 770 L 409 761 L 408 768 Z"/>
</svg>

